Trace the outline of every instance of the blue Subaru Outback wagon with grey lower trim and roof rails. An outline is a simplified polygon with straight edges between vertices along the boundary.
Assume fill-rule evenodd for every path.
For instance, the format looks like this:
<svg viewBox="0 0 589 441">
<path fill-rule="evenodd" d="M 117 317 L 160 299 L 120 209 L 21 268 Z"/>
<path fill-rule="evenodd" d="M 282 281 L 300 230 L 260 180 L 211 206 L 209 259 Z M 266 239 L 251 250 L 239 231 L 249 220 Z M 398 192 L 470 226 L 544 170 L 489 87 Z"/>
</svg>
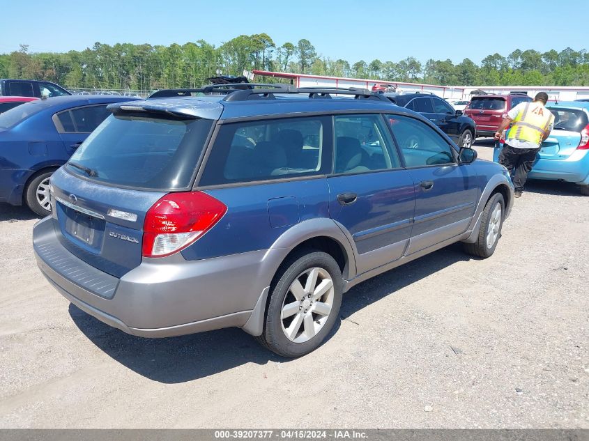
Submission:
<svg viewBox="0 0 589 441">
<path fill-rule="evenodd" d="M 231 87 L 110 105 L 53 174 L 33 244 L 70 302 L 137 336 L 240 327 L 298 357 L 355 284 L 453 242 L 493 254 L 499 164 L 369 91 Z"/>
</svg>

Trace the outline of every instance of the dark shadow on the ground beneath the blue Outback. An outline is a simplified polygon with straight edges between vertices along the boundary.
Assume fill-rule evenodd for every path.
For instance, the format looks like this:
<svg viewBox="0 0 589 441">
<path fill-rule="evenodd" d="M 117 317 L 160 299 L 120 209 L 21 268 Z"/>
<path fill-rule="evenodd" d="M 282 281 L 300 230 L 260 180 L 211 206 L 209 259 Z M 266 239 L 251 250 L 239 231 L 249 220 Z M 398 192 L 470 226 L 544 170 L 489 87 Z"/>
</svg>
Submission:
<svg viewBox="0 0 589 441">
<path fill-rule="evenodd" d="M 459 244 L 450 245 L 365 281 L 344 295 L 340 318 L 351 320 L 349 316 L 386 295 L 469 258 Z M 105 325 L 73 304 L 70 304 L 69 313 L 79 330 L 107 355 L 139 375 L 162 383 L 197 380 L 247 363 L 289 362 L 262 348 L 252 336 L 236 328 L 145 339 Z M 337 320 L 328 339 L 340 325 L 341 321 Z"/>
</svg>

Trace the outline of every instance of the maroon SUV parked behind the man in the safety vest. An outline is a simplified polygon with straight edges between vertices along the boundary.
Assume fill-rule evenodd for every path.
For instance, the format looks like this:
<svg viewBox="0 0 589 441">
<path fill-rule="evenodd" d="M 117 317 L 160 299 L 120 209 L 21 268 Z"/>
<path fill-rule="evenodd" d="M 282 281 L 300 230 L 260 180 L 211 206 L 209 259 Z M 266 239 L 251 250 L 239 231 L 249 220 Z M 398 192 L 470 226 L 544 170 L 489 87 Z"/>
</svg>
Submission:
<svg viewBox="0 0 589 441">
<path fill-rule="evenodd" d="M 519 105 L 520 102 L 529 101 L 532 101 L 532 98 L 523 93 L 477 95 L 471 98 L 464 114 L 475 121 L 477 137 L 492 137 L 508 111 Z"/>
</svg>

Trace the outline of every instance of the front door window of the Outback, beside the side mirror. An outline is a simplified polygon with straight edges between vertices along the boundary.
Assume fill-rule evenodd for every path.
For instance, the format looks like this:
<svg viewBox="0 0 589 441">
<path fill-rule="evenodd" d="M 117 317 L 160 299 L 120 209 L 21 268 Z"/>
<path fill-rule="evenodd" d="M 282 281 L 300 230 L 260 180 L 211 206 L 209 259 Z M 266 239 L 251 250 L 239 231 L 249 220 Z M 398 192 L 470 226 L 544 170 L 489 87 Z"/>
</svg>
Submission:
<svg viewBox="0 0 589 441">
<path fill-rule="evenodd" d="M 400 115 L 389 115 L 388 121 L 407 167 L 454 163 L 450 144 L 427 124 Z"/>
</svg>

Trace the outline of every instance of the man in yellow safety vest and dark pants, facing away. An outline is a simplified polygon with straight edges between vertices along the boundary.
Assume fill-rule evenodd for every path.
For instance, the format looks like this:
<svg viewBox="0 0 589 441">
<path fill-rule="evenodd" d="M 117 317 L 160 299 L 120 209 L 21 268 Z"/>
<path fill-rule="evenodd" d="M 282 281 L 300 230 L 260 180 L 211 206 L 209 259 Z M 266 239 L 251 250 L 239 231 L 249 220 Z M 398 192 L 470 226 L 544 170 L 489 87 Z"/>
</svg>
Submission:
<svg viewBox="0 0 589 441">
<path fill-rule="evenodd" d="M 501 133 L 507 130 L 503 150 L 499 155 L 499 164 L 505 166 L 512 174 L 515 187 L 514 196 L 519 198 L 523 192 L 528 173 L 536 159 L 540 146 L 553 127 L 554 116 L 546 109 L 548 95 L 544 92 L 537 93 L 533 102 L 521 102 L 507 112 L 507 116 L 501 121 L 501 125 L 495 133 L 495 139 L 500 139 Z"/>
</svg>

